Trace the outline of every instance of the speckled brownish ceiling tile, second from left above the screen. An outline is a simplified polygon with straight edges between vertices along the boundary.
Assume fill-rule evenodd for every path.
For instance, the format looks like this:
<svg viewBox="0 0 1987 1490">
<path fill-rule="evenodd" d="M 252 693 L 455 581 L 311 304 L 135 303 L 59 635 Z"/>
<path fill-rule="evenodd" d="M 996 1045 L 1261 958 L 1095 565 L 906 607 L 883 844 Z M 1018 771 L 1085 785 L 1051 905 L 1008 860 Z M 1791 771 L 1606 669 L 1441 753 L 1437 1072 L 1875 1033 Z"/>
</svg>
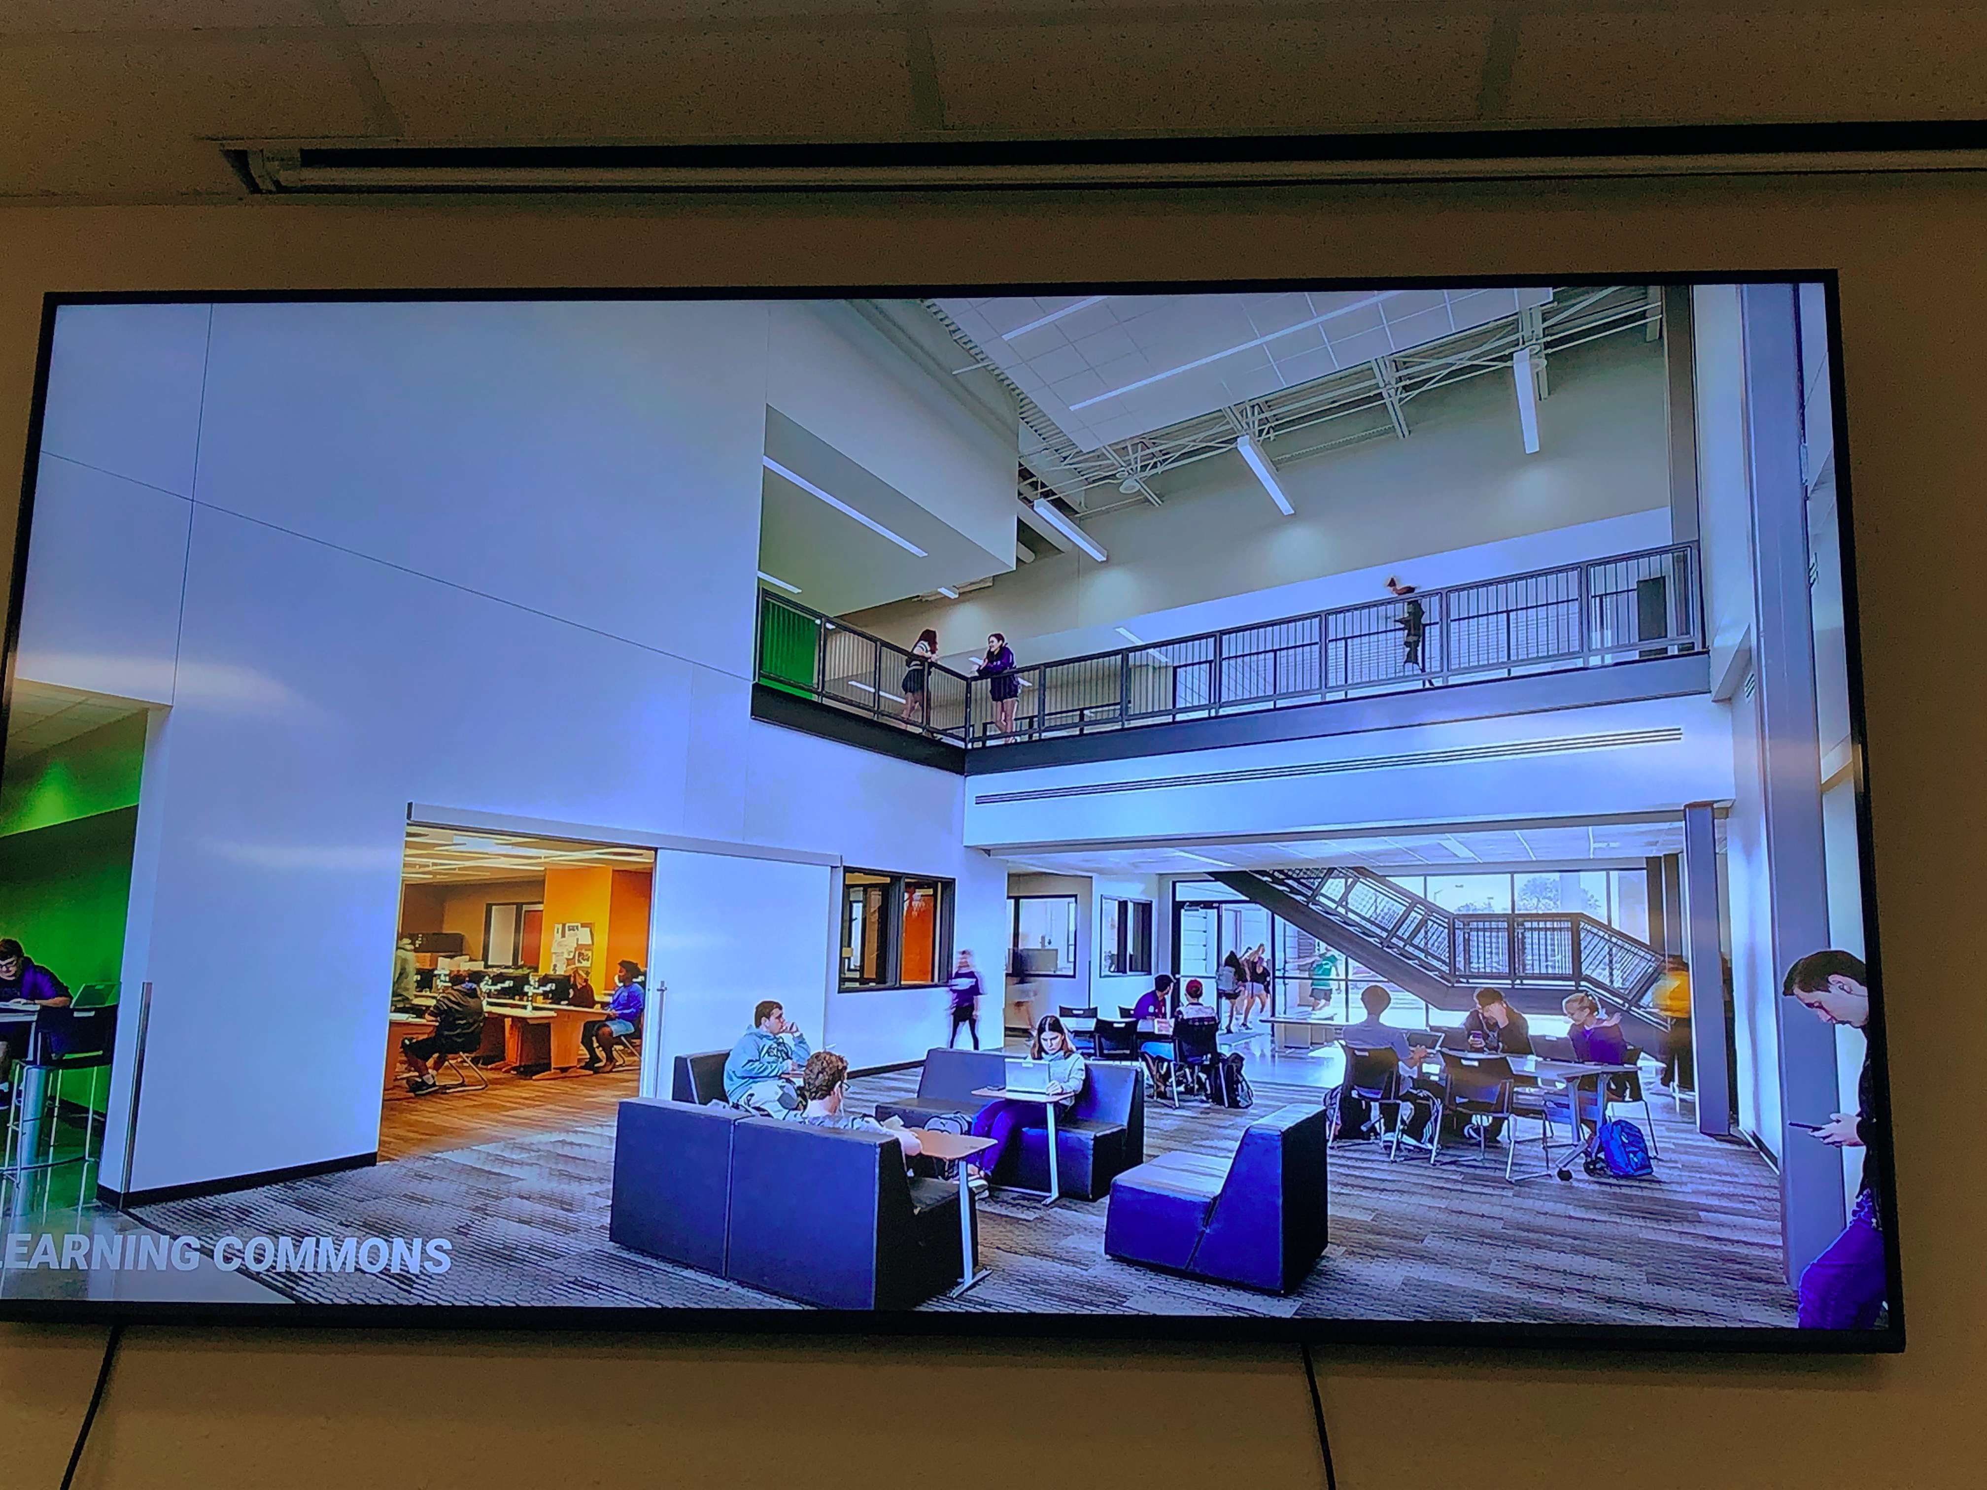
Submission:
<svg viewBox="0 0 1987 1490">
<path fill-rule="evenodd" d="M 411 137 L 866 139 L 910 125 L 896 32 L 360 32 Z"/>
</svg>

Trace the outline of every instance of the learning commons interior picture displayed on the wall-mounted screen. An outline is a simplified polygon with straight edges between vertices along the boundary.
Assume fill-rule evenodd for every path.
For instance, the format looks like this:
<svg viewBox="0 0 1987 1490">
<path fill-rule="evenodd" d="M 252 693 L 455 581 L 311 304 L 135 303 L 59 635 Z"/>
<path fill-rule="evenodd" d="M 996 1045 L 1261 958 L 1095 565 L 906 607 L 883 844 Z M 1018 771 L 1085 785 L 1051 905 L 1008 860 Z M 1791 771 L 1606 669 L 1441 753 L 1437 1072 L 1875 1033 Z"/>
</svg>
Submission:
<svg viewBox="0 0 1987 1490">
<path fill-rule="evenodd" d="M 48 328 L 0 1309 L 1900 1337 L 1828 286 Z"/>
</svg>

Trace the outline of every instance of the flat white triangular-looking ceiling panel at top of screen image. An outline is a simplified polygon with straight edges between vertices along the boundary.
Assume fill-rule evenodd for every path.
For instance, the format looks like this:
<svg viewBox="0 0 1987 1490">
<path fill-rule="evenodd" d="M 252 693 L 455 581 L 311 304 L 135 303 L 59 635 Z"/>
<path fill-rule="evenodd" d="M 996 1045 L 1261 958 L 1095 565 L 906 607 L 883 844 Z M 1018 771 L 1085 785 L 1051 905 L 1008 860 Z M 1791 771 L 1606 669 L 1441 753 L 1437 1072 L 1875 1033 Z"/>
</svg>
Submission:
<svg viewBox="0 0 1987 1490">
<path fill-rule="evenodd" d="M 1081 449 L 1411 352 L 1550 288 L 999 296 L 936 304 Z"/>
</svg>

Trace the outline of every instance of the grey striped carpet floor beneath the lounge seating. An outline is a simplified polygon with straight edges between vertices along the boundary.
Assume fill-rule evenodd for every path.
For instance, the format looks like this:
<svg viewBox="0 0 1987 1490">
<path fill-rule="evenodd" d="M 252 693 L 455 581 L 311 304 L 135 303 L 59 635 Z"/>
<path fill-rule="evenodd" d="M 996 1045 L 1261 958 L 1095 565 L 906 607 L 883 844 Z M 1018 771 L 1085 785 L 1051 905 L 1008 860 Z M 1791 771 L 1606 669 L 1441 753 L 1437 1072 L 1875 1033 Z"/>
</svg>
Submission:
<svg viewBox="0 0 1987 1490">
<path fill-rule="evenodd" d="M 916 1071 L 864 1077 L 850 1107 L 916 1089 Z M 1262 1081 L 1256 1113 L 1317 1103 Z M 1490 1162 L 1389 1162 L 1375 1142 L 1331 1150 L 1331 1246 L 1288 1297 L 1170 1277 L 1103 1256 L 1105 1202 L 980 1206 L 992 1275 L 926 1309 L 1250 1313 L 1333 1319 L 1790 1325 L 1778 1264 L 1778 1186 L 1758 1154 L 1705 1138 L 1655 1105 L 1655 1180 L 1554 1178 L 1510 1186 Z M 1146 1152 L 1230 1152 L 1248 1113 L 1188 1101 L 1146 1109 Z M 1526 1126 L 1530 1132 L 1530 1126 Z M 143 1212 L 193 1236 L 423 1236 L 453 1242 L 447 1273 L 260 1273 L 318 1303 L 799 1307 L 612 1246 L 612 1124 L 527 1134 L 370 1170 L 326 1174 Z M 1403 1150 L 1405 1154 L 1405 1150 Z M 1536 1144 L 1532 1144 L 1536 1154 Z M 1520 1164 L 1528 1154 L 1520 1150 Z"/>
</svg>

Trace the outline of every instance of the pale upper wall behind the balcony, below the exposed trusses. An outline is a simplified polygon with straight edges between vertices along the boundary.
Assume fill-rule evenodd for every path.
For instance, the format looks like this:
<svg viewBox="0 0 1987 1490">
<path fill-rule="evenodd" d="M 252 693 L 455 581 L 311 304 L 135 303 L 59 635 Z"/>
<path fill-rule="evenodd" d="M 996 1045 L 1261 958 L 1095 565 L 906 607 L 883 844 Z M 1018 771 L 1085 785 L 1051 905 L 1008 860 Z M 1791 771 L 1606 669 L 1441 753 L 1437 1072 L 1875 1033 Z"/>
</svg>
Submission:
<svg viewBox="0 0 1987 1490">
<path fill-rule="evenodd" d="M 1031 540 L 1041 556 L 990 590 L 880 606 L 850 622 L 894 642 L 934 626 L 948 656 L 966 656 L 960 646 L 999 630 L 1027 662 L 1069 656 L 1057 638 L 1085 628 L 1129 626 L 1148 642 L 1190 634 L 1198 628 L 1176 624 L 1182 606 L 1226 596 L 1252 596 L 1252 604 L 1222 626 L 1345 604 L 1292 604 L 1296 592 L 1258 596 L 1317 576 L 1385 578 L 1411 568 L 1415 582 L 1443 582 L 1433 570 L 1423 576 L 1423 556 L 1629 513 L 1663 509 L 1653 542 L 1667 542 L 1663 383 L 1661 344 L 1607 338 L 1554 358 L 1538 455 L 1524 453 L 1510 377 L 1486 375 L 1409 403 L 1405 441 L 1373 439 L 1307 459 L 1270 447 L 1272 459 L 1288 459 L 1280 483 L 1296 517 L 1276 511 L 1240 457 L 1210 457 L 1154 483 L 1164 507 L 1137 503 L 1085 522 L 1111 554 L 1107 564 Z M 1311 437 L 1331 431 L 1325 425 Z M 1286 447 L 1301 439 L 1292 435 Z M 1093 499 L 1119 501 L 1109 489 Z M 1413 524 L 1401 521 L 1409 499 Z M 1379 590 L 1351 598 L 1379 598 Z"/>
</svg>

